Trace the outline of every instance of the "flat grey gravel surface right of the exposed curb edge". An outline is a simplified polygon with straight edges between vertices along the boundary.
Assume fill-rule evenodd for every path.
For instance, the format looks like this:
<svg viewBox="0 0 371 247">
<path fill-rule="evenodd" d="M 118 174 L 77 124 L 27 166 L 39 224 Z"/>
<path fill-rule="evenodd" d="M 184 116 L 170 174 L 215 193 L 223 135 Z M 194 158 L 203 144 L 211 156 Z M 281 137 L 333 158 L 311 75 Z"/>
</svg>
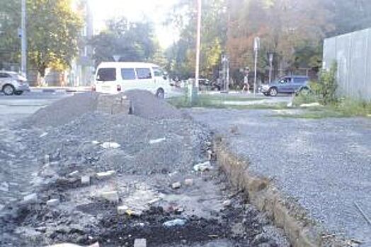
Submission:
<svg viewBox="0 0 371 247">
<path fill-rule="evenodd" d="M 371 119 L 282 119 L 272 111 L 192 109 L 314 219 L 371 246 Z"/>
</svg>

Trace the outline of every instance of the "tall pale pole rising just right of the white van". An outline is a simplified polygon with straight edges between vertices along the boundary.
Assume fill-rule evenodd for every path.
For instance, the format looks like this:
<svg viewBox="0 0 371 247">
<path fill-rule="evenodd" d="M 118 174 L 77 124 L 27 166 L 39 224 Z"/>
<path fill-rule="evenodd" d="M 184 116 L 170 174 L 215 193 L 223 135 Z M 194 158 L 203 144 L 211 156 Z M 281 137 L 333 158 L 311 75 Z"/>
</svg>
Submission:
<svg viewBox="0 0 371 247">
<path fill-rule="evenodd" d="M 193 103 L 193 97 L 198 94 L 200 78 L 200 46 L 201 46 L 201 15 L 202 15 L 202 0 L 197 1 L 198 15 L 197 15 L 197 43 L 196 43 L 196 66 L 195 66 L 195 82 L 190 89 L 190 102 Z M 195 95 L 194 95 L 195 93 Z"/>
</svg>

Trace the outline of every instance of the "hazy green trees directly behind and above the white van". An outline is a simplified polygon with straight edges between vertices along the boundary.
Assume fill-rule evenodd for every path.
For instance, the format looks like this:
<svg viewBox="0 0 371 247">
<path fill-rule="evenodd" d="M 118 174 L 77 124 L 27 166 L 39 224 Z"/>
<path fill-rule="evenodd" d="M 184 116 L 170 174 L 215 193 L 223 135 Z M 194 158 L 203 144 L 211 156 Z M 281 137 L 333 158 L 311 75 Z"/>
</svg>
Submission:
<svg viewBox="0 0 371 247">
<path fill-rule="evenodd" d="M 130 23 L 126 18 L 115 18 L 109 20 L 108 29 L 93 37 L 89 44 L 95 50 L 93 58 L 97 65 L 102 61 L 114 61 L 115 55 L 120 56 L 120 61 L 155 59 L 164 64 L 152 23 Z"/>
</svg>

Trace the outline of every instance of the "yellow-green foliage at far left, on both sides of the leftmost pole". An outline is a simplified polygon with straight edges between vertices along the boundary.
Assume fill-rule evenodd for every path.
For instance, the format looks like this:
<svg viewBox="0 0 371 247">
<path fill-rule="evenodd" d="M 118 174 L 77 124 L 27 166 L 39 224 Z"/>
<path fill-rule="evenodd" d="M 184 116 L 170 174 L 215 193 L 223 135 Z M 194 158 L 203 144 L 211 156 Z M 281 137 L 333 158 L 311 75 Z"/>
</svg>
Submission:
<svg viewBox="0 0 371 247">
<path fill-rule="evenodd" d="M 81 20 L 72 11 L 71 0 L 28 0 L 28 59 L 30 65 L 45 76 L 46 68 L 63 70 L 77 53 L 77 41 Z M 21 26 L 21 1 L 0 1 L 0 19 L 3 29 L 0 47 L 8 52 L 3 58 L 19 62 L 20 40 L 18 27 Z"/>
</svg>

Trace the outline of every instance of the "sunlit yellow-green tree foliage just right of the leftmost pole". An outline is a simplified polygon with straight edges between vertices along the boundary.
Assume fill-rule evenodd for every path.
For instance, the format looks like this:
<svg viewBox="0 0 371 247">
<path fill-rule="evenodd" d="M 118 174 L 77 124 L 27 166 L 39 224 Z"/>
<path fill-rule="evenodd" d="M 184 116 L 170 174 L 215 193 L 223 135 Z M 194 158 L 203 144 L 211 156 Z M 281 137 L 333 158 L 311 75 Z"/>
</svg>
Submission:
<svg viewBox="0 0 371 247">
<path fill-rule="evenodd" d="M 81 19 L 71 0 L 28 0 L 28 56 L 45 77 L 46 68 L 64 70 L 78 52 Z"/>
</svg>

